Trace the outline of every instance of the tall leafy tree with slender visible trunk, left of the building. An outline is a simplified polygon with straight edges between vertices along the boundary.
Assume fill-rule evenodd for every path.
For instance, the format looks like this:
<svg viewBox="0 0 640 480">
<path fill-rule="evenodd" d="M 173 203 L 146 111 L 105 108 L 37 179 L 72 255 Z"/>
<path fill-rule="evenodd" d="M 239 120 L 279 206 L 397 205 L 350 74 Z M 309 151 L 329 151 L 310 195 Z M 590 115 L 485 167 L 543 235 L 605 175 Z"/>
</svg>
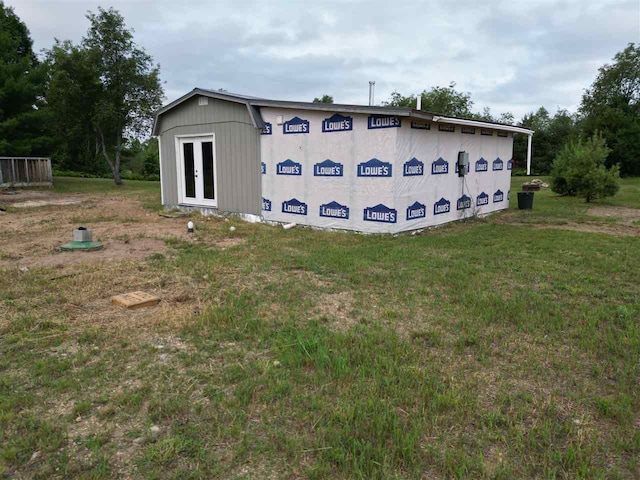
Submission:
<svg viewBox="0 0 640 480">
<path fill-rule="evenodd" d="M 47 101 L 56 118 L 102 156 L 117 185 L 128 140 L 147 135 L 163 91 L 159 67 L 133 41 L 124 18 L 113 8 L 89 13 L 91 26 L 80 46 L 58 42 L 49 54 Z M 67 147 L 69 149 L 69 147 Z"/>
</svg>

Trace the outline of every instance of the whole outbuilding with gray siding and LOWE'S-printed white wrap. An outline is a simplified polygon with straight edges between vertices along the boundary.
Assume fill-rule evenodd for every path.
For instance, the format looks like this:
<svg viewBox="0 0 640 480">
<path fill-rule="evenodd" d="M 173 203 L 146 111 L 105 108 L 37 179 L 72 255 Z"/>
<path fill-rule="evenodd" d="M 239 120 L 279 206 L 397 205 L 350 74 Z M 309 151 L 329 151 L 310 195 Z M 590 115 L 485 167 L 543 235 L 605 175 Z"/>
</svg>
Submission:
<svg viewBox="0 0 640 480">
<path fill-rule="evenodd" d="M 397 233 L 508 208 L 513 135 L 412 108 L 194 89 L 162 108 L 162 204 Z"/>
</svg>

